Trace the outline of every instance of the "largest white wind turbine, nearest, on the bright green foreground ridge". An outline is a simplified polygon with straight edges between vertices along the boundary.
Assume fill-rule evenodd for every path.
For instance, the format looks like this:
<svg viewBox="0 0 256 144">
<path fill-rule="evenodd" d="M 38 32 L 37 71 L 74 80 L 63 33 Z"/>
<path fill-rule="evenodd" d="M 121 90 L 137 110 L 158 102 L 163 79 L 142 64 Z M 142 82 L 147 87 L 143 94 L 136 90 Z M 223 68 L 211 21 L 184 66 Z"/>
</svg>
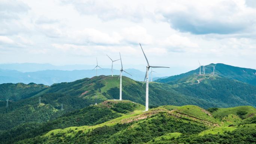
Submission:
<svg viewBox="0 0 256 144">
<path fill-rule="evenodd" d="M 147 66 L 146 66 L 147 71 L 146 71 L 146 76 L 144 78 L 144 82 L 147 79 L 147 81 L 146 81 L 146 110 L 145 111 L 148 111 L 149 110 L 149 68 L 150 67 L 152 67 L 152 68 L 170 68 L 170 67 L 150 66 L 149 61 L 147 60 L 147 57 L 146 57 L 141 45 L 140 45 L 140 48 L 141 48 L 141 50 L 146 58 L 146 61 L 147 61 Z M 143 82 L 143 84 L 144 84 L 144 82 Z"/>
</svg>

